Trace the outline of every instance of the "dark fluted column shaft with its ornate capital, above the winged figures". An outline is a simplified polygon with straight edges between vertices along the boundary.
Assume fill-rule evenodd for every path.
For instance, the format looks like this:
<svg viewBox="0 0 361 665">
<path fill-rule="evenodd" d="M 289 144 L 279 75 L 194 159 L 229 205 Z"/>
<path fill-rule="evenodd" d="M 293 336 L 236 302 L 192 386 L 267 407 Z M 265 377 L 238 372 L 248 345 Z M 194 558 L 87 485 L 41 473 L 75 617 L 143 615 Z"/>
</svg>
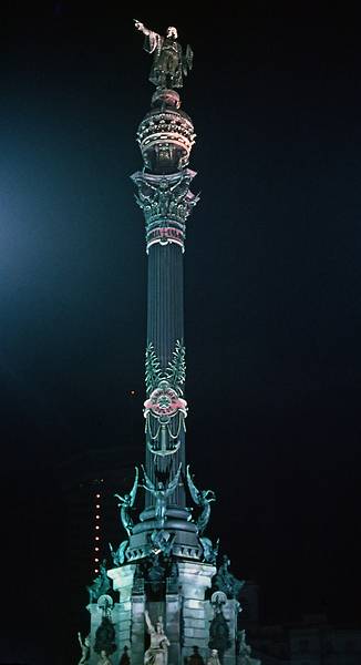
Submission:
<svg viewBox="0 0 361 665">
<path fill-rule="evenodd" d="M 186 218 L 198 197 L 189 191 L 195 172 L 135 173 L 144 212 L 148 255 L 146 349 L 146 473 L 152 483 L 185 469 L 184 285 Z M 146 507 L 154 504 L 152 494 Z M 169 508 L 185 505 L 182 480 Z"/>
</svg>

